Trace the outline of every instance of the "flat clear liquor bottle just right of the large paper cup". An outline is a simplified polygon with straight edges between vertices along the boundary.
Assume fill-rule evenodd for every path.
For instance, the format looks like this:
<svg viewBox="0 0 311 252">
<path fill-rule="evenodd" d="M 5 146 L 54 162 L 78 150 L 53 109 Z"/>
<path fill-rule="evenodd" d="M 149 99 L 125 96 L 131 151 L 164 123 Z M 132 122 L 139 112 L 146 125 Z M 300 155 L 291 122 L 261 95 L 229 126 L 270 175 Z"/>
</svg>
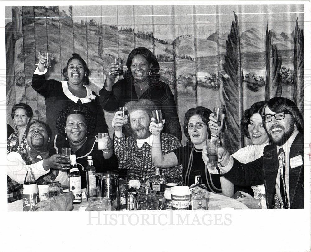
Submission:
<svg viewBox="0 0 311 252">
<path fill-rule="evenodd" d="M 201 176 L 195 176 L 195 182 L 189 188 L 189 209 L 207 209 L 207 186 L 202 184 Z"/>
</svg>

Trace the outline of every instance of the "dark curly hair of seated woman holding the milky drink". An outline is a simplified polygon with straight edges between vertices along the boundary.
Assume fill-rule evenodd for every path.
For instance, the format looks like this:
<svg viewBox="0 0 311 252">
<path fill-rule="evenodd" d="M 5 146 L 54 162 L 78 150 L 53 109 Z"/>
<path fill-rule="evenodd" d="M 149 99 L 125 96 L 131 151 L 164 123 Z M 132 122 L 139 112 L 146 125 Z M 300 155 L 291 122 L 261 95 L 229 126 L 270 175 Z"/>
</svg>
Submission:
<svg viewBox="0 0 311 252">
<path fill-rule="evenodd" d="M 88 106 L 79 105 L 79 104 L 72 104 L 69 106 L 64 107 L 62 110 L 59 111 L 57 120 L 56 120 L 56 128 L 58 132 L 62 135 L 65 134 L 65 126 L 67 117 L 71 114 L 81 114 L 84 116 L 86 121 L 86 136 L 89 136 L 93 133 L 95 129 L 95 119 L 92 115 L 91 110 Z"/>
</svg>

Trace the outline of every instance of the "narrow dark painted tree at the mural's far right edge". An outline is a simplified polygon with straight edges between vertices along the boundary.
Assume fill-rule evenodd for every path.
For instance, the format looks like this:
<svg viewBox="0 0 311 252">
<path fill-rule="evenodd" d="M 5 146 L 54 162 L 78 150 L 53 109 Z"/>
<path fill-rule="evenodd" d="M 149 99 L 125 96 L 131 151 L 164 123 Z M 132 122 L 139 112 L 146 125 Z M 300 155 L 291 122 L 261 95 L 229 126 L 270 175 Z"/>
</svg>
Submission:
<svg viewBox="0 0 311 252">
<path fill-rule="evenodd" d="M 304 112 L 304 31 L 300 30 L 298 18 L 294 31 L 294 88 L 293 96 L 299 110 Z"/>
</svg>

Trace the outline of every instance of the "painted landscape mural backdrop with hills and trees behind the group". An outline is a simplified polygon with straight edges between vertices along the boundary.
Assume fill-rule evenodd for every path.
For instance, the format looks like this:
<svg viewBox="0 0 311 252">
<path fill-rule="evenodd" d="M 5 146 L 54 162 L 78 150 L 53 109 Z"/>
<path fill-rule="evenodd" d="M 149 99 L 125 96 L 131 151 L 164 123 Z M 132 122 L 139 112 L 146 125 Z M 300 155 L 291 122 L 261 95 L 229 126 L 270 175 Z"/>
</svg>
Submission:
<svg viewBox="0 0 311 252">
<path fill-rule="evenodd" d="M 112 58 L 144 46 L 160 63 L 181 125 L 191 107 L 222 106 L 224 143 L 234 152 L 245 142 L 241 115 L 254 102 L 284 96 L 303 110 L 303 28 L 303 5 L 7 6 L 7 122 L 19 102 L 45 120 L 44 98 L 31 88 L 38 51 L 52 52 L 47 78 L 59 81 L 80 54 L 98 93 Z M 105 115 L 110 125 L 113 113 Z"/>
</svg>

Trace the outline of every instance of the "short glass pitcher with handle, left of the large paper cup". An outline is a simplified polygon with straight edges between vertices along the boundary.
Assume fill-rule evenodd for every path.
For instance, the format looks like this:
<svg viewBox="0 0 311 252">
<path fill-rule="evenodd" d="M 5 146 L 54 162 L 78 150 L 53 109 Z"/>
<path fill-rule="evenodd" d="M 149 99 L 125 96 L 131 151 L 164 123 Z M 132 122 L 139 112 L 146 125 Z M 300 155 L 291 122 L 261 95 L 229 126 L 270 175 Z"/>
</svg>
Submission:
<svg viewBox="0 0 311 252">
<path fill-rule="evenodd" d="M 135 197 L 135 210 L 162 210 L 164 207 L 164 196 L 156 195 L 156 191 L 142 189 L 137 191 Z M 159 204 L 159 202 L 161 202 Z"/>
</svg>

